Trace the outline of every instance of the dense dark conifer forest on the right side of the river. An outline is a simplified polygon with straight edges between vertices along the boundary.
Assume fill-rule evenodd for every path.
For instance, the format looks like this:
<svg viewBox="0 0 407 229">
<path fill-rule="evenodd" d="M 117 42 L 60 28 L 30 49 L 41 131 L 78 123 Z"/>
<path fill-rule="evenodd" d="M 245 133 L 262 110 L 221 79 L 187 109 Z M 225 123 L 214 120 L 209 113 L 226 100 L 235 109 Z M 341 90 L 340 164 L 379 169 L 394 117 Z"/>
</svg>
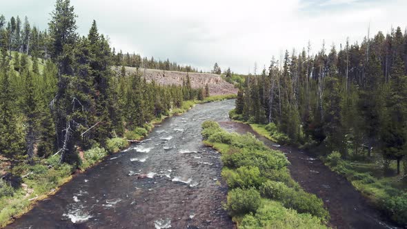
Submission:
<svg viewBox="0 0 407 229">
<path fill-rule="evenodd" d="M 399 27 L 361 43 L 346 41 L 339 51 L 325 44 L 315 55 L 310 45 L 286 50 L 267 70 L 246 77 L 235 114 L 275 123 L 294 142 L 325 143 L 343 158 L 376 152 L 385 168 L 396 160 L 400 172 L 407 152 L 406 75 L 407 32 Z"/>
</svg>

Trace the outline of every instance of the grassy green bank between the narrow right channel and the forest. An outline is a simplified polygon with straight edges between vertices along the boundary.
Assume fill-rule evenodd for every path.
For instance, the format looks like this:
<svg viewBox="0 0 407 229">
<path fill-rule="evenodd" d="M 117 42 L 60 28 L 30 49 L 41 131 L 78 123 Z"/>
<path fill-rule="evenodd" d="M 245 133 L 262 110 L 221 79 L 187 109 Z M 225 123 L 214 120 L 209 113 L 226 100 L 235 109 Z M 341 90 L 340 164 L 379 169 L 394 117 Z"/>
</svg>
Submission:
<svg viewBox="0 0 407 229">
<path fill-rule="evenodd" d="M 230 112 L 232 119 L 234 112 Z M 348 160 L 343 159 L 339 152 L 331 152 L 328 155 L 321 155 L 319 150 L 324 150 L 323 146 L 316 146 L 315 144 L 304 143 L 303 145 L 292 142 L 288 137 L 284 137 L 279 141 L 278 136 L 286 136 L 284 133 L 279 133 L 275 129 L 274 123 L 269 124 L 255 124 L 244 121 L 232 119 L 240 123 L 250 125 L 252 130 L 257 134 L 266 137 L 270 141 L 274 141 L 281 145 L 290 145 L 306 149 L 309 152 L 317 155 L 321 161 L 324 162 L 330 170 L 336 172 L 338 175 L 345 177 L 352 186 L 361 192 L 366 197 L 368 203 L 374 208 L 379 209 L 395 223 L 400 226 L 407 223 L 407 195 L 403 190 L 406 185 L 402 182 L 400 177 L 393 177 L 391 172 L 388 175 L 384 174 L 383 168 L 373 161 L 366 160 Z M 277 137 L 276 137 L 277 136 Z M 390 164 L 390 170 L 397 170 L 395 163 Z"/>
</svg>

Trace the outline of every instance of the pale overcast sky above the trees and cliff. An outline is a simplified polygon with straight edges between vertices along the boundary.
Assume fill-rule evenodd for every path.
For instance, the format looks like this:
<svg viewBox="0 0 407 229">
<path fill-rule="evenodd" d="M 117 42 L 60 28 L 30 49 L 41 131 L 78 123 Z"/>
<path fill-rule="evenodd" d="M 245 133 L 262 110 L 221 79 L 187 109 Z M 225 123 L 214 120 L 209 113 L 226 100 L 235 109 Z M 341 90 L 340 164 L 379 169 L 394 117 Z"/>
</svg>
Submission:
<svg viewBox="0 0 407 229">
<path fill-rule="evenodd" d="M 0 0 L 0 14 L 17 14 L 47 28 L 54 0 Z M 312 52 L 332 43 L 361 41 L 368 33 L 407 26 L 406 0 L 71 0 L 79 34 L 95 19 L 117 50 L 210 70 L 253 72 L 282 51 Z"/>
</svg>

